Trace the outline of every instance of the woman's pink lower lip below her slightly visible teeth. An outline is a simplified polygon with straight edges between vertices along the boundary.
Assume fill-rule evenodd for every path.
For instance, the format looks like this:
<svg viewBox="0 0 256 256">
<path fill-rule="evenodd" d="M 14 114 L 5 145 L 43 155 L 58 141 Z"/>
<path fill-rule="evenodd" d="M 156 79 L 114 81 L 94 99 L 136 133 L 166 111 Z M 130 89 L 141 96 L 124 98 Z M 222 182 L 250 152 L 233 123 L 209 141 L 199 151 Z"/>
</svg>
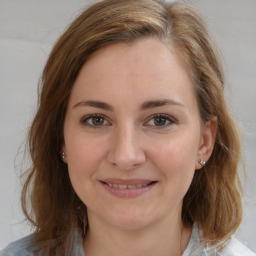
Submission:
<svg viewBox="0 0 256 256">
<path fill-rule="evenodd" d="M 142 194 L 145 194 L 149 190 L 151 190 L 157 184 L 157 182 L 154 182 L 146 187 L 121 189 L 121 188 L 109 187 L 107 184 L 103 182 L 100 182 L 100 183 L 112 195 L 120 198 L 134 198 L 134 197 L 140 196 Z"/>
</svg>

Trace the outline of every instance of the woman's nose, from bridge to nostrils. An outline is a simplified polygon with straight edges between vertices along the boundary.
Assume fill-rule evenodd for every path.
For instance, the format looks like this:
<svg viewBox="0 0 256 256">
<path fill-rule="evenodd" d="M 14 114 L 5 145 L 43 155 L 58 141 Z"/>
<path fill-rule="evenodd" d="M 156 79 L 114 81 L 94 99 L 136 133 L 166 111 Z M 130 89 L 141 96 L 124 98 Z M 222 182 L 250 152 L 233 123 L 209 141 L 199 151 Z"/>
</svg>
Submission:
<svg viewBox="0 0 256 256">
<path fill-rule="evenodd" d="M 142 165 L 146 161 L 146 156 L 140 141 L 136 128 L 120 127 L 112 134 L 108 162 L 123 171 Z"/>
</svg>

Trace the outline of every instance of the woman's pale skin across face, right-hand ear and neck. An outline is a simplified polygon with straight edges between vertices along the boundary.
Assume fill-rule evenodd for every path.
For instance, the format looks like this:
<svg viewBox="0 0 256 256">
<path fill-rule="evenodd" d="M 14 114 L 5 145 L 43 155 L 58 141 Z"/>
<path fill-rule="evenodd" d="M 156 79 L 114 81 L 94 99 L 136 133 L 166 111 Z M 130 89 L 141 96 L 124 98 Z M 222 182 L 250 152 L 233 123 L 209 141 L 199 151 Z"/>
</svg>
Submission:
<svg viewBox="0 0 256 256">
<path fill-rule="evenodd" d="M 198 160 L 210 158 L 216 126 L 216 118 L 201 122 L 186 70 L 159 40 L 98 50 L 74 83 L 62 147 L 88 210 L 85 254 L 180 255 L 191 235 L 182 201 Z"/>
</svg>

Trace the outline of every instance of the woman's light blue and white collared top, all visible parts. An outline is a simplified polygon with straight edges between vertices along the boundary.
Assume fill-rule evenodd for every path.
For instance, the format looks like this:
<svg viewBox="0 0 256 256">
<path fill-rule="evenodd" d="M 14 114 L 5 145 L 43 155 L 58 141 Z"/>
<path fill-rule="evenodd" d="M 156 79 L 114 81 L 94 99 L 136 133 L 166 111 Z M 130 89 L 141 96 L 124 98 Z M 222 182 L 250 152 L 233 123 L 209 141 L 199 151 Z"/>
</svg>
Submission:
<svg viewBox="0 0 256 256">
<path fill-rule="evenodd" d="M 32 237 L 33 234 L 10 243 L 0 252 L 0 256 L 35 256 L 36 254 L 28 249 Z M 82 238 L 76 234 L 74 251 L 70 256 L 85 256 Z M 229 240 L 221 252 L 218 251 L 217 246 L 203 247 L 200 243 L 200 232 L 194 224 L 188 247 L 182 256 L 256 256 L 256 254 L 235 238 Z"/>
</svg>

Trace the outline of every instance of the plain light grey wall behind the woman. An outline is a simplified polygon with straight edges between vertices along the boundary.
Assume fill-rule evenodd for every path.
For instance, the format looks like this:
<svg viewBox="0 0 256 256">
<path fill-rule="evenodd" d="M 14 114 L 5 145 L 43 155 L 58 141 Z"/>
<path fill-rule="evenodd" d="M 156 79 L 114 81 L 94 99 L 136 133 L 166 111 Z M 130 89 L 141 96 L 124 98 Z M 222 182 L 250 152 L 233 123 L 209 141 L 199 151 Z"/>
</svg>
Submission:
<svg viewBox="0 0 256 256">
<path fill-rule="evenodd" d="M 205 16 L 223 55 L 226 96 L 243 133 L 248 172 L 238 237 L 256 251 L 256 0 L 190 2 Z M 53 43 L 88 3 L 0 0 L 0 248 L 30 232 L 22 223 L 18 176 L 26 165 L 24 140 L 38 79 Z"/>
</svg>

